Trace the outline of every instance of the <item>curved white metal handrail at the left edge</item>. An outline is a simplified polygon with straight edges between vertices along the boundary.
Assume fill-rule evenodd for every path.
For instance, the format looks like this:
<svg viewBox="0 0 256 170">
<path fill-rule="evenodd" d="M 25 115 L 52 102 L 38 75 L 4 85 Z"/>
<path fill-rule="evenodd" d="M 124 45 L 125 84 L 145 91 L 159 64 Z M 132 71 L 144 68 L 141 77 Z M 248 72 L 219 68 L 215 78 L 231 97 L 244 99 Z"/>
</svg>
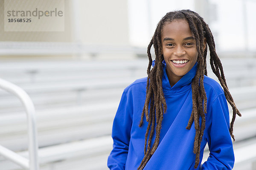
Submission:
<svg viewBox="0 0 256 170">
<path fill-rule="evenodd" d="M 35 107 L 29 95 L 17 85 L 12 84 L 4 79 L 0 79 L 0 88 L 17 96 L 22 102 L 27 115 L 28 136 L 29 136 L 29 159 L 24 158 L 12 150 L 0 145 L 0 155 L 9 159 L 21 167 L 29 170 L 39 170 L 38 165 L 38 141 L 35 120 Z"/>
</svg>

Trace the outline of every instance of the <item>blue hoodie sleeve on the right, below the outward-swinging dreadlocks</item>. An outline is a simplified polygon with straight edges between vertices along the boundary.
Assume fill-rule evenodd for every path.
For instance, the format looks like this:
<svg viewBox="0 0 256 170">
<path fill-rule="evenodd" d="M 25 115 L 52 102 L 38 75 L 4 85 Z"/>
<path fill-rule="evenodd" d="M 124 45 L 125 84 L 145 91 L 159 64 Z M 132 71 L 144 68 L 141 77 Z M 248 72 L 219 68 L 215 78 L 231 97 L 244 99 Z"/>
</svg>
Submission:
<svg viewBox="0 0 256 170">
<path fill-rule="evenodd" d="M 229 133 L 229 111 L 224 94 L 216 97 L 207 112 L 206 139 L 210 153 L 201 170 L 231 170 L 235 157 Z"/>
</svg>

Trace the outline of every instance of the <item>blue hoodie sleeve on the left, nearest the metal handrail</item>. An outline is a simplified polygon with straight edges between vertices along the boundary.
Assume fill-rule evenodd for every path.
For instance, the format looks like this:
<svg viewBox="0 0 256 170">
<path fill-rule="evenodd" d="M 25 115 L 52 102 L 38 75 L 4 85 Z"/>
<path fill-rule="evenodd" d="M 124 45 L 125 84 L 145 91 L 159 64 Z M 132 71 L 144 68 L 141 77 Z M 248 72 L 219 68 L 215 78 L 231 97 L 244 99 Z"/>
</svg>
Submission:
<svg viewBox="0 0 256 170">
<path fill-rule="evenodd" d="M 113 121 L 113 150 L 108 156 L 110 170 L 125 170 L 132 125 L 132 102 L 124 91 Z"/>
</svg>

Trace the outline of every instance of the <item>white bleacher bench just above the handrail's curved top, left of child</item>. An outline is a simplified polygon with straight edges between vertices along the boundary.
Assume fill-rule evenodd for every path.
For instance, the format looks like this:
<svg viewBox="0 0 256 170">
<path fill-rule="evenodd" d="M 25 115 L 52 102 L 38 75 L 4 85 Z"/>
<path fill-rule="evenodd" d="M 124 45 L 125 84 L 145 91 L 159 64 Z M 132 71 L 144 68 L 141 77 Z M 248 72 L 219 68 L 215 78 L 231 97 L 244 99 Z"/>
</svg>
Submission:
<svg viewBox="0 0 256 170">
<path fill-rule="evenodd" d="M 0 76 L 11 82 L 19 84 L 26 82 L 23 77 L 29 81 L 32 76 L 35 82 L 59 81 L 74 79 L 77 75 L 81 78 L 101 78 L 103 76 L 111 77 L 118 74 L 130 76 L 137 71 L 146 73 L 147 61 L 145 59 L 130 61 L 51 61 L 51 62 L 10 62 L 0 63 Z M 125 73 L 126 72 L 126 73 Z M 84 75 L 82 77 L 82 74 Z M 17 77 L 19 76 L 20 77 Z M 120 76 L 119 75 L 119 76 Z M 92 77 L 94 76 L 94 77 Z M 80 78 L 77 77 L 77 78 Z"/>
</svg>

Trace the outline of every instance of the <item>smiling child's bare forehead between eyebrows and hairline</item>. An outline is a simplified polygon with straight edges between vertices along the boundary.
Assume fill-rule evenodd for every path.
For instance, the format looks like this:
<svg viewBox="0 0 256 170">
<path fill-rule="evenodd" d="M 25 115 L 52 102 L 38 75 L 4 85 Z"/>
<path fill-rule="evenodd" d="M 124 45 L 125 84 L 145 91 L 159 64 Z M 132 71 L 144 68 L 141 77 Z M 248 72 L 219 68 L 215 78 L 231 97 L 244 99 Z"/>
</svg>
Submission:
<svg viewBox="0 0 256 170">
<path fill-rule="evenodd" d="M 189 23 L 186 20 L 174 20 L 172 22 L 165 23 L 161 33 L 161 37 L 174 38 L 174 37 L 190 37 L 193 36 Z"/>
</svg>

